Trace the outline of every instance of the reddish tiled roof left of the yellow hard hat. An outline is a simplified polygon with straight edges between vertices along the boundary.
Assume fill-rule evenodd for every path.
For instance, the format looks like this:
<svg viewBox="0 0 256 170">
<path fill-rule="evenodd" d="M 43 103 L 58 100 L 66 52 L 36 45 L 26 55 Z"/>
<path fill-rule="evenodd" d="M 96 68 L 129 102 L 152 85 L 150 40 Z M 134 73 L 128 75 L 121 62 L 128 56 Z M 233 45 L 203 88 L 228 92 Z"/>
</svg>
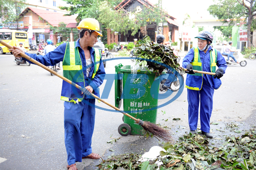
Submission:
<svg viewBox="0 0 256 170">
<path fill-rule="evenodd" d="M 60 22 L 65 24 L 76 23 L 76 16 L 63 16 L 63 13 L 57 13 L 53 11 L 46 11 L 37 8 L 26 8 L 20 15 L 25 15 L 28 12 L 28 9 L 38 14 L 39 17 L 46 20 L 51 26 L 58 26 Z"/>
</svg>

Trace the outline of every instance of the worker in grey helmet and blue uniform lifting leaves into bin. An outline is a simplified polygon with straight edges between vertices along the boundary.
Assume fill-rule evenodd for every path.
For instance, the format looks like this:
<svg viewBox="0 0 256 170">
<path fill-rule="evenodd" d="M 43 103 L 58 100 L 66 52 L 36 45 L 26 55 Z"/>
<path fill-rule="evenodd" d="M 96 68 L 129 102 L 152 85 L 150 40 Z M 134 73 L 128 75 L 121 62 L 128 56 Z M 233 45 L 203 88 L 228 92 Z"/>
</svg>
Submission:
<svg viewBox="0 0 256 170">
<path fill-rule="evenodd" d="M 191 48 L 183 59 L 182 66 L 186 68 L 186 88 L 189 103 L 189 128 L 194 134 L 198 124 L 198 109 L 200 102 L 200 121 L 202 134 L 212 138 L 210 132 L 210 117 L 212 115 L 214 89 L 221 86 L 220 78 L 226 71 L 227 63 L 221 53 L 210 44 L 213 37 L 209 31 L 201 31 L 197 37 L 198 47 Z M 218 66 L 218 69 L 216 69 Z M 215 76 L 198 74 L 194 70 L 215 73 Z M 217 78 L 217 79 L 216 79 Z"/>
</svg>

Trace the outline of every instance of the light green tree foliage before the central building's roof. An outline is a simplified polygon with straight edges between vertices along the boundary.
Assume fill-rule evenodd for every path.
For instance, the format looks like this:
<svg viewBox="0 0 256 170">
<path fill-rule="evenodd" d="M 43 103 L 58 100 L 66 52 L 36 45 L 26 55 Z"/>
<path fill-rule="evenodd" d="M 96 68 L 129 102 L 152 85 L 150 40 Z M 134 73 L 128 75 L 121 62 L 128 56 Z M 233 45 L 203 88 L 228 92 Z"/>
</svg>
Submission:
<svg viewBox="0 0 256 170">
<path fill-rule="evenodd" d="M 131 35 L 135 35 L 140 28 L 143 28 L 151 23 L 165 22 L 165 13 L 157 4 L 155 7 L 144 7 L 142 11 L 128 12 L 121 8 L 116 10 L 108 1 L 104 1 L 99 8 L 99 21 L 113 31 L 118 31 L 127 34 L 131 30 Z"/>
</svg>

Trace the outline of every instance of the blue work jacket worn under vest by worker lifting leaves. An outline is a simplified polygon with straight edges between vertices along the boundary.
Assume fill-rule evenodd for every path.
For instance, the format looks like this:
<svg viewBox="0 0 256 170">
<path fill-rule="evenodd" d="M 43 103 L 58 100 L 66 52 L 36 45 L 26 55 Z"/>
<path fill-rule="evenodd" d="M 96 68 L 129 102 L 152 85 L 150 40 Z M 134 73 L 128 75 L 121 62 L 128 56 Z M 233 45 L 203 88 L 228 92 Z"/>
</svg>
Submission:
<svg viewBox="0 0 256 170">
<path fill-rule="evenodd" d="M 210 52 L 209 51 L 212 51 L 212 47 L 209 46 L 209 48 L 207 49 L 207 52 L 204 53 L 204 51 L 200 51 L 199 50 L 199 55 L 200 55 L 200 59 L 201 59 L 201 62 L 202 62 L 202 71 L 207 71 L 207 72 L 211 72 L 211 68 L 210 68 Z M 224 57 L 221 55 L 221 52 L 220 51 L 217 51 L 217 62 L 216 62 L 216 65 L 218 66 L 218 68 L 221 68 L 224 73 L 226 71 L 226 68 L 227 68 L 227 62 L 226 60 L 224 59 Z M 194 50 L 193 48 L 191 48 L 188 52 L 188 54 L 186 54 L 186 56 L 184 57 L 183 59 L 183 62 L 182 62 L 182 67 L 183 68 L 186 68 L 186 66 L 191 63 L 194 59 Z M 217 70 L 217 68 L 216 68 Z M 208 82 L 210 83 L 211 87 L 213 87 L 214 85 L 214 82 L 212 80 L 212 75 L 209 75 L 209 74 L 206 74 L 206 77 L 207 77 L 207 80 Z M 217 78 L 216 78 L 217 79 Z M 191 79 L 186 79 L 186 82 L 187 81 L 193 81 Z M 197 82 L 195 82 L 197 83 Z M 198 82 L 200 83 L 200 82 Z M 187 83 L 186 83 L 187 84 Z M 201 86 L 201 85 L 200 85 Z"/>
</svg>

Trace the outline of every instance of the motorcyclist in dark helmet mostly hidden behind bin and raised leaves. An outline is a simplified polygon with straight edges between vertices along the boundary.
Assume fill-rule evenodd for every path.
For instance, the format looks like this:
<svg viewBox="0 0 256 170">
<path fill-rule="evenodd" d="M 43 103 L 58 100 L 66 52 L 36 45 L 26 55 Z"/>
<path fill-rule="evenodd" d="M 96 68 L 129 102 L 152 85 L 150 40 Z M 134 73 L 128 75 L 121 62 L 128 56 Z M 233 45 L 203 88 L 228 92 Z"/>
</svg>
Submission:
<svg viewBox="0 0 256 170">
<path fill-rule="evenodd" d="M 165 37 L 163 36 L 163 34 L 158 34 L 157 35 L 157 43 L 160 45 L 163 45 L 163 41 L 165 40 Z M 162 84 L 161 86 L 161 91 L 167 91 L 167 90 L 171 90 L 169 87 L 171 85 L 171 83 L 173 82 L 173 80 L 175 79 L 175 74 L 173 74 L 173 72 L 169 69 L 167 69 L 167 74 L 168 78 L 166 79 L 166 82 L 164 82 L 164 84 Z M 165 79 L 164 76 L 161 77 L 161 81 Z M 172 81 L 171 81 L 172 80 Z"/>
</svg>

